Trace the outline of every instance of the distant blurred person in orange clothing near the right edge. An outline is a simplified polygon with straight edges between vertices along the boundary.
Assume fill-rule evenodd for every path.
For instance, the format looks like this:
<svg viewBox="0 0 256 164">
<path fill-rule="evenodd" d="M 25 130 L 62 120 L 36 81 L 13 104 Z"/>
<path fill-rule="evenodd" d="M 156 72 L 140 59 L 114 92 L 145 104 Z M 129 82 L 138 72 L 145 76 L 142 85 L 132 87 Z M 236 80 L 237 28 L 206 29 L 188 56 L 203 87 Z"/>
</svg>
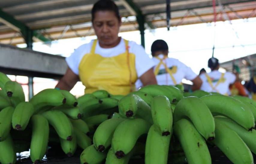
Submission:
<svg viewBox="0 0 256 164">
<path fill-rule="evenodd" d="M 248 97 L 245 87 L 242 85 L 241 79 L 239 78 L 240 68 L 237 65 L 233 66 L 233 73 L 236 75 L 236 81 L 234 84 L 229 86 L 231 96 L 240 95 Z"/>
</svg>

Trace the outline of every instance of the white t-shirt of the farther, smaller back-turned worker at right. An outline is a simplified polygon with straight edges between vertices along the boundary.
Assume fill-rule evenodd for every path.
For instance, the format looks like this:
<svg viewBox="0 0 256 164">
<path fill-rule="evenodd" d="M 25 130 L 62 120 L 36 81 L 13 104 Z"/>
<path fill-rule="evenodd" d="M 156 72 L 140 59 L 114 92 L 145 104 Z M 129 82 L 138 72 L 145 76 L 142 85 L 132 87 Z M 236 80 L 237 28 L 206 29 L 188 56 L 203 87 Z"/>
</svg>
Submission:
<svg viewBox="0 0 256 164">
<path fill-rule="evenodd" d="M 210 76 L 210 78 L 213 82 L 213 86 L 215 86 L 217 84 L 217 82 L 219 81 L 222 73 L 219 72 L 218 70 L 214 70 L 214 71 L 208 73 L 208 75 Z M 210 86 L 210 83 L 208 83 L 207 78 L 204 73 L 200 75 L 200 78 L 203 81 L 201 90 L 206 91 L 206 92 L 217 92 L 216 90 L 212 89 L 212 87 Z M 231 72 L 226 72 L 223 78 L 225 80 L 223 82 L 219 83 L 219 85 L 216 87 L 216 89 L 219 91 L 220 94 L 224 95 L 224 94 L 229 93 L 229 85 L 236 81 L 236 76 Z"/>
</svg>

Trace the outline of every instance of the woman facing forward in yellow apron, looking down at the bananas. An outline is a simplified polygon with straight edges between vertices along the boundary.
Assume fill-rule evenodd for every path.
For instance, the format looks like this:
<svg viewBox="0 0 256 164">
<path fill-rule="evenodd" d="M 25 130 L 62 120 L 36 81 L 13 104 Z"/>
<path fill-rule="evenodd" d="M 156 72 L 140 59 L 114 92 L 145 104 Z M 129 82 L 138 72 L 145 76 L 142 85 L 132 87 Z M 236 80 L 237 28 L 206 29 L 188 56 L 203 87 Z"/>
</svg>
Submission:
<svg viewBox="0 0 256 164">
<path fill-rule="evenodd" d="M 106 90 L 113 95 L 126 95 L 135 89 L 139 78 L 143 85 L 156 84 L 153 61 L 144 48 L 118 37 L 121 17 L 111 0 L 100 0 L 91 10 L 97 40 L 78 47 L 66 58 L 68 69 L 57 88 L 71 90 L 79 79 L 85 93 Z"/>
</svg>

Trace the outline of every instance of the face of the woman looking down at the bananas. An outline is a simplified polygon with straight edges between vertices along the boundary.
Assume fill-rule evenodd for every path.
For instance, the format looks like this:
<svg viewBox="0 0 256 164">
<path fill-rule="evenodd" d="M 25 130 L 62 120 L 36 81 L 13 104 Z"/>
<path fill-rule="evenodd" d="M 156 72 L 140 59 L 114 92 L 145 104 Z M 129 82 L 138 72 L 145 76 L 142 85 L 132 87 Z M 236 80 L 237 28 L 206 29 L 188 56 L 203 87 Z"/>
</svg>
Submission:
<svg viewBox="0 0 256 164">
<path fill-rule="evenodd" d="M 121 21 L 113 11 L 103 10 L 94 13 L 93 28 L 103 46 L 111 46 L 118 41 Z"/>
</svg>

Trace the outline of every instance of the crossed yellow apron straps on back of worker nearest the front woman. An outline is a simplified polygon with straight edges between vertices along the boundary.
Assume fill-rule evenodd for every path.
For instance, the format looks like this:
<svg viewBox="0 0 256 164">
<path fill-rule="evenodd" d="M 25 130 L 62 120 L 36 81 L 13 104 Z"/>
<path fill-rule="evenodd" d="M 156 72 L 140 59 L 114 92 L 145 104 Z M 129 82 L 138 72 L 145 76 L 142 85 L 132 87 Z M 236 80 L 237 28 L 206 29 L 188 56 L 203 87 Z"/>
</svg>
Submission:
<svg viewBox="0 0 256 164">
<path fill-rule="evenodd" d="M 165 67 L 165 71 L 168 72 L 168 74 L 171 76 L 171 79 L 172 79 L 172 82 L 174 83 L 174 85 L 177 84 L 175 78 L 173 77 L 173 74 L 175 74 L 177 72 L 177 66 L 173 66 L 172 69 L 169 69 L 168 66 L 163 62 L 164 59 L 168 58 L 167 56 L 164 56 L 164 58 L 159 58 L 158 56 L 155 57 L 157 58 L 160 62 L 158 63 L 158 65 L 156 66 L 156 69 L 155 69 L 155 76 L 159 73 L 160 71 L 160 66 L 163 65 Z M 182 84 L 182 83 L 180 83 Z"/>
</svg>

